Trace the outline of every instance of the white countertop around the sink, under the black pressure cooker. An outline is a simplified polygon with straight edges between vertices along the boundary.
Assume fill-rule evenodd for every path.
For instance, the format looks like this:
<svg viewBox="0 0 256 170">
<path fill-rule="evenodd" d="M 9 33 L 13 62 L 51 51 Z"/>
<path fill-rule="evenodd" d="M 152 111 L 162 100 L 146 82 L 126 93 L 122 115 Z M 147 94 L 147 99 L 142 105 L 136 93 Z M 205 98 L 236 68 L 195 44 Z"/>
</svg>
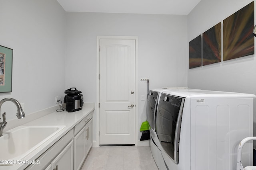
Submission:
<svg viewBox="0 0 256 170">
<path fill-rule="evenodd" d="M 40 147 L 33 150 L 28 156 L 22 158 L 25 162 L 30 160 L 36 160 L 42 153 L 44 153 L 47 149 L 49 149 L 54 143 L 56 143 L 61 137 L 63 137 L 68 131 L 70 131 L 72 128 L 74 128 L 75 125 L 77 125 L 84 117 L 89 115 L 94 111 L 94 107 L 83 107 L 82 110 L 75 111 L 75 112 L 67 112 L 67 111 L 61 111 L 61 112 L 53 112 L 50 114 L 47 114 L 43 117 L 40 117 L 38 119 L 35 119 L 33 121 L 30 121 L 28 123 L 25 123 L 23 125 L 64 125 L 64 127 L 61 131 L 59 131 L 56 135 L 51 137 L 48 141 L 43 143 Z M 1 146 L 4 147 L 4 146 Z M 22 161 L 21 160 L 21 161 Z M 14 160 L 15 162 L 17 160 Z M 20 160 L 18 160 L 20 161 Z M 23 162 L 24 162 L 23 161 Z M 0 170 L 23 170 L 29 166 L 29 164 L 15 164 L 15 165 L 6 165 L 6 166 L 0 166 Z"/>
</svg>

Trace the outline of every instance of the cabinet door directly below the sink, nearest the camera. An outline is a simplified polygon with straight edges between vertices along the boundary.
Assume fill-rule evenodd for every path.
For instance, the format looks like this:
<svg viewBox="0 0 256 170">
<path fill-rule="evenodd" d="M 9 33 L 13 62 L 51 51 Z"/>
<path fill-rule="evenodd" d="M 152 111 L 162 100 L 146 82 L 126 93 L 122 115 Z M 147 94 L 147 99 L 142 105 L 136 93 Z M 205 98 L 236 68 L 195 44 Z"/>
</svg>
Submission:
<svg viewBox="0 0 256 170">
<path fill-rule="evenodd" d="M 60 154 L 52 161 L 52 169 L 73 170 L 74 169 L 74 141 L 72 140 Z"/>
</svg>

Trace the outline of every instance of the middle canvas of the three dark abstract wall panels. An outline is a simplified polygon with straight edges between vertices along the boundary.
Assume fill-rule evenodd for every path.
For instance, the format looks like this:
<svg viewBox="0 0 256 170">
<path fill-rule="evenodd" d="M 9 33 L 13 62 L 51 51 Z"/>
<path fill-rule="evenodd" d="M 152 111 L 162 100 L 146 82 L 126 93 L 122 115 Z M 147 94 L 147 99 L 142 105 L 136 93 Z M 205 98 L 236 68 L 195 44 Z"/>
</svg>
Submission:
<svg viewBox="0 0 256 170">
<path fill-rule="evenodd" d="M 203 66 L 221 61 L 221 22 L 203 33 Z"/>
</svg>

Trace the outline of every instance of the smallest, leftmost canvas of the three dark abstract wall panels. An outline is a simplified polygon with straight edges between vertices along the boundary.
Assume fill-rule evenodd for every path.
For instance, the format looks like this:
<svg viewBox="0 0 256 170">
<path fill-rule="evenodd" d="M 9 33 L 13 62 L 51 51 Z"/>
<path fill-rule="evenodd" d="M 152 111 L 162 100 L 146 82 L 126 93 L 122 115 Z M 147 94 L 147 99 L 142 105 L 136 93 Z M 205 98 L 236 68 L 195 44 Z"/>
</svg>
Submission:
<svg viewBox="0 0 256 170">
<path fill-rule="evenodd" d="M 189 42 L 189 68 L 202 65 L 202 36 L 199 35 Z"/>
</svg>

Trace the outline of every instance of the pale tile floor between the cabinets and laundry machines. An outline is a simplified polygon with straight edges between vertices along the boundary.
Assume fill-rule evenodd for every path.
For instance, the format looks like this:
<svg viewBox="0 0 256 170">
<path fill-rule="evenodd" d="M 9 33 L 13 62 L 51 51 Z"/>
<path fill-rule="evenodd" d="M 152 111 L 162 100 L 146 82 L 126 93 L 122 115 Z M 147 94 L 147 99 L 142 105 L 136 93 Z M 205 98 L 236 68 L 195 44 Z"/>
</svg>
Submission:
<svg viewBox="0 0 256 170">
<path fill-rule="evenodd" d="M 92 148 L 81 170 L 158 170 L 150 147 Z"/>
</svg>

